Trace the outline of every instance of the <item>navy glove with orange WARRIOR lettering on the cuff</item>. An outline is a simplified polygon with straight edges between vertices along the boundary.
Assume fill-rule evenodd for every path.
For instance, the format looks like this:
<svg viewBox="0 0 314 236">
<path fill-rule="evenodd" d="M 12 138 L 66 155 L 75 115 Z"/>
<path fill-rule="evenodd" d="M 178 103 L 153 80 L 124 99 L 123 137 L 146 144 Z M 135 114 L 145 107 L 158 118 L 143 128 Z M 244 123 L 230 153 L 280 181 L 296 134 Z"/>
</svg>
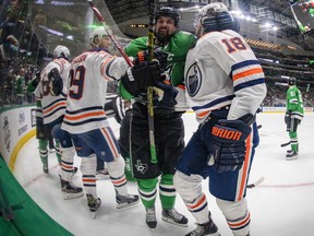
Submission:
<svg viewBox="0 0 314 236">
<path fill-rule="evenodd" d="M 245 158 L 245 140 L 251 127 L 242 120 L 220 119 L 213 127 L 214 167 L 218 173 L 239 170 Z M 210 162 L 210 160 L 209 160 Z"/>
</svg>

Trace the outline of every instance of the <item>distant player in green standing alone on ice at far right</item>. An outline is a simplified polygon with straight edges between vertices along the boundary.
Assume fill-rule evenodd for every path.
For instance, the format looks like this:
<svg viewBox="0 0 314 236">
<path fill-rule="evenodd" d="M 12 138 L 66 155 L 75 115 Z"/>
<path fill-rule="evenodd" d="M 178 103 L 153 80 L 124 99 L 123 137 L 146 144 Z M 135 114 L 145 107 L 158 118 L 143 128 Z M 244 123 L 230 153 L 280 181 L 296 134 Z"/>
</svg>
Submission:
<svg viewBox="0 0 314 236">
<path fill-rule="evenodd" d="M 288 81 L 289 88 L 287 91 L 287 111 L 285 116 L 285 122 L 287 125 L 287 131 L 290 137 L 291 150 L 287 151 L 287 160 L 298 158 L 299 142 L 298 142 L 298 126 L 303 119 L 303 99 L 300 90 L 297 87 L 295 78 L 290 78 Z"/>
</svg>

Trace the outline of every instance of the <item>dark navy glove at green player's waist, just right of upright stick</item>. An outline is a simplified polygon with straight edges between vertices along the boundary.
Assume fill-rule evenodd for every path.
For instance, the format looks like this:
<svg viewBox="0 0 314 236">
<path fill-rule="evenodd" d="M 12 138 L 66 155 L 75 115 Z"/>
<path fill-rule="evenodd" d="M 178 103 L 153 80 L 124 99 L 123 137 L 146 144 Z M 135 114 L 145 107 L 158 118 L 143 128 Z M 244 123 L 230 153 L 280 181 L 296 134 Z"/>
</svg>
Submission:
<svg viewBox="0 0 314 236">
<path fill-rule="evenodd" d="M 158 95 L 158 101 L 156 101 L 156 106 L 161 107 L 174 107 L 177 105 L 177 94 L 178 91 L 169 81 L 161 81 L 154 86 L 154 91 Z"/>
</svg>

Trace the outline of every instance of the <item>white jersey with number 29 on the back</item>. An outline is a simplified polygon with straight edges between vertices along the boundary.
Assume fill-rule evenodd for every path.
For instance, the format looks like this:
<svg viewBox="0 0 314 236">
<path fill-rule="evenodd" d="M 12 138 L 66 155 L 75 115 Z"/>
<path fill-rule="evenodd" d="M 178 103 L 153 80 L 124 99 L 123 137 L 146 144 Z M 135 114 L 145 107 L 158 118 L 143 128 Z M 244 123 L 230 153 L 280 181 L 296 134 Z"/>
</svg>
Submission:
<svg viewBox="0 0 314 236">
<path fill-rule="evenodd" d="M 108 127 L 104 110 L 108 81 L 120 79 L 128 63 L 105 50 L 95 49 L 76 57 L 71 64 L 71 86 L 62 129 L 83 133 Z"/>
</svg>

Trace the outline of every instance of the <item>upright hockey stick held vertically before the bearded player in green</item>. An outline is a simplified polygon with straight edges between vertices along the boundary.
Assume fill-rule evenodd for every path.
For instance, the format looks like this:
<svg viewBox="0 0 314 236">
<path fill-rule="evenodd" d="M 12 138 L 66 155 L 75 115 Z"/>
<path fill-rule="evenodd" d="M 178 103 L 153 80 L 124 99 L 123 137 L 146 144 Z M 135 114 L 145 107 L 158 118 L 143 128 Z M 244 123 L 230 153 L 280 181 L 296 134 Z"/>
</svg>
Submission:
<svg viewBox="0 0 314 236">
<path fill-rule="evenodd" d="M 154 55 L 154 24 L 155 24 L 155 11 L 156 11 L 156 2 L 153 0 L 148 0 L 148 12 L 149 12 L 149 24 L 148 24 L 148 54 L 149 61 L 153 61 Z M 148 132 L 149 132 L 149 144 L 150 144 L 150 162 L 157 163 L 156 157 L 156 145 L 155 145 L 155 137 L 154 137 L 154 104 L 153 104 L 153 86 L 147 87 L 147 109 L 148 109 Z"/>
</svg>

